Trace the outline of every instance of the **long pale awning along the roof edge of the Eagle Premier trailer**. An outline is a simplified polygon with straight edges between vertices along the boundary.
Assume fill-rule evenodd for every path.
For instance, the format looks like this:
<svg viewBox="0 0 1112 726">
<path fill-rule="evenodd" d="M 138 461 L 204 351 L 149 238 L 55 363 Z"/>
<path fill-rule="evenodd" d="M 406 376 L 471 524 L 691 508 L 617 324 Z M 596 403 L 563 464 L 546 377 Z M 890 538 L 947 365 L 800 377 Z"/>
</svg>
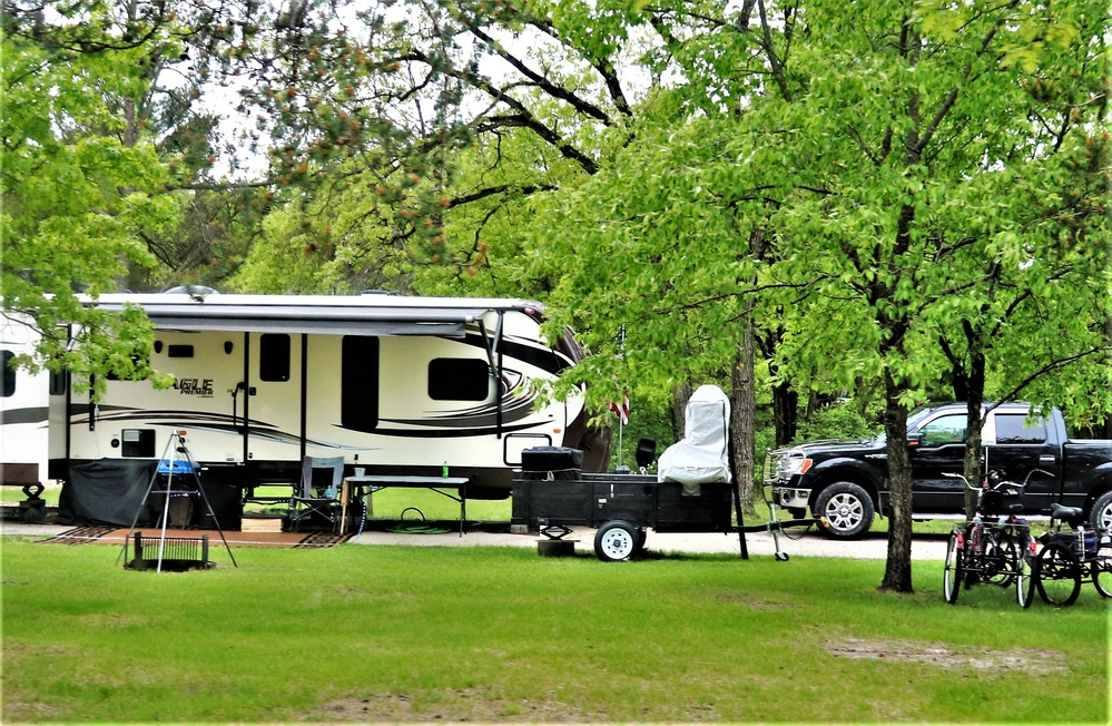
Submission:
<svg viewBox="0 0 1112 726">
<path fill-rule="evenodd" d="M 101 303 L 108 311 L 121 304 Z M 253 333 L 324 333 L 332 335 L 441 335 L 463 337 L 468 323 L 485 310 L 391 306 L 145 304 L 147 317 L 160 330 L 248 331 Z"/>
</svg>

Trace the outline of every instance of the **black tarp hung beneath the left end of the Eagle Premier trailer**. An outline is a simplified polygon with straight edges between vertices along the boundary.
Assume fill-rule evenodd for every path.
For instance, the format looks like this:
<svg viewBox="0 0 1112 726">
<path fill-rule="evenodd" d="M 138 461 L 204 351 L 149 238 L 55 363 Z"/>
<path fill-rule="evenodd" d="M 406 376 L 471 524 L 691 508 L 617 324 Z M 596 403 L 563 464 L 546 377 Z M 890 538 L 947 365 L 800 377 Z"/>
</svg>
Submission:
<svg viewBox="0 0 1112 726">
<path fill-rule="evenodd" d="M 160 524 L 166 481 L 160 474 L 154 482 L 156 461 L 101 459 L 70 467 L 69 478 L 62 484 L 58 499 L 58 521 L 77 526 L 156 527 Z M 197 493 L 197 482 L 213 507 L 222 529 L 238 530 L 243 506 L 239 491 L 226 484 L 207 485 L 204 475 L 176 474 L 171 479 L 175 491 L 189 492 L 170 498 L 171 527 L 209 527 L 214 522 L 205 500 Z M 151 494 L 147 497 L 148 487 Z M 139 511 L 140 507 L 142 511 Z M 136 516 L 138 514 L 138 520 Z"/>
</svg>

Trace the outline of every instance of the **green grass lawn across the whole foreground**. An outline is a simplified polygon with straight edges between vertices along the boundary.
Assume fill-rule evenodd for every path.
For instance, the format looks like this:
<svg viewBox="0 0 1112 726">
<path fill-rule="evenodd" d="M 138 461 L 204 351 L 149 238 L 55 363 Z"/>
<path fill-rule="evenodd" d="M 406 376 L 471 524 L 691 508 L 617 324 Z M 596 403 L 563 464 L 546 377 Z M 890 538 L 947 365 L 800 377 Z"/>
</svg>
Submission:
<svg viewBox="0 0 1112 726">
<path fill-rule="evenodd" d="M 3 723 L 1106 723 L 1109 610 L 884 563 L 215 548 L 203 572 L 2 539 Z"/>
</svg>

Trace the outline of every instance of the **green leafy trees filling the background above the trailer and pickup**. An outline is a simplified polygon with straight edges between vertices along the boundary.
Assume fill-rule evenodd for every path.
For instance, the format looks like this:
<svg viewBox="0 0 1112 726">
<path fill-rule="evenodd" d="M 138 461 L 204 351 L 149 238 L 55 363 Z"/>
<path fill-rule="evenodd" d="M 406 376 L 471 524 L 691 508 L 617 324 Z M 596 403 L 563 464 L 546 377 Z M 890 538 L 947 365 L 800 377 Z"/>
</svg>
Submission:
<svg viewBox="0 0 1112 726">
<path fill-rule="evenodd" d="M 532 297 L 592 352 L 553 394 L 590 382 L 604 412 L 629 389 L 628 441 L 678 438 L 717 382 L 751 482 L 845 394 L 840 432 L 883 421 L 901 490 L 923 400 L 1112 411 L 1106 21 L 1093 0 L 13 0 L 4 308 L 45 333 L 24 363 L 142 377 L 141 316 L 75 287 Z"/>
</svg>

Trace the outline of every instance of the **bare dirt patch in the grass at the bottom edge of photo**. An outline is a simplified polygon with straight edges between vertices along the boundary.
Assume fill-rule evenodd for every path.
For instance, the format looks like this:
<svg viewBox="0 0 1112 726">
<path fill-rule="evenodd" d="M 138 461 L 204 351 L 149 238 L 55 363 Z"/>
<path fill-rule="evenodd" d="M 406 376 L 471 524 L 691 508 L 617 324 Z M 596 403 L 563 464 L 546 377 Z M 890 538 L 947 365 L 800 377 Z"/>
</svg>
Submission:
<svg viewBox="0 0 1112 726">
<path fill-rule="evenodd" d="M 522 722 L 587 723 L 592 720 L 555 698 L 506 702 L 482 688 L 462 688 L 414 697 L 388 694 L 372 698 L 339 698 L 307 715 L 308 720 L 344 723 Z"/>
</svg>

